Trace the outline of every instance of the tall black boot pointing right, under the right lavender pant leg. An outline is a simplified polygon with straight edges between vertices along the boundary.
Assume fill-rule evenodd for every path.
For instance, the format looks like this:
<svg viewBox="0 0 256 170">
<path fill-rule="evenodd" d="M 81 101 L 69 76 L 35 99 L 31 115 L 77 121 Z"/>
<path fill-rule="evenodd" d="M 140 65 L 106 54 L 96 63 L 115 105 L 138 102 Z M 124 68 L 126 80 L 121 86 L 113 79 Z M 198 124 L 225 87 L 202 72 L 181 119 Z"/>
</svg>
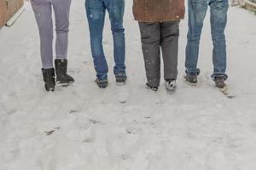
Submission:
<svg viewBox="0 0 256 170">
<path fill-rule="evenodd" d="M 55 59 L 56 82 L 70 84 L 74 82 L 73 77 L 67 74 L 67 59 Z"/>
</svg>

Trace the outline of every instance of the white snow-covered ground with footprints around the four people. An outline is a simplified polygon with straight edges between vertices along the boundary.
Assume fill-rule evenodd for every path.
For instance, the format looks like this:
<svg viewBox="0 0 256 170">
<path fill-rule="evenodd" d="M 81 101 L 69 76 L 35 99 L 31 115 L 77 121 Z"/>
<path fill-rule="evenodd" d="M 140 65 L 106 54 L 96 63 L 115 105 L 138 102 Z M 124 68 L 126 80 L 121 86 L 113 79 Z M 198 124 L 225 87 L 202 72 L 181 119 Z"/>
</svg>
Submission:
<svg viewBox="0 0 256 170">
<path fill-rule="evenodd" d="M 84 2 L 72 5 L 69 71 L 76 82 L 46 93 L 32 9 L 0 31 L 0 170 L 254 170 L 256 17 L 230 8 L 226 30 L 235 99 L 212 88 L 209 15 L 201 40 L 201 86 L 183 83 L 187 18 L 181 22 L 177 94 L 145 89 L 137 22 L 126 1 L 129 82 L 99 89 L 90 57 Z M 113 67 L 105 27 L 104 47 Z"/>
</svg>

